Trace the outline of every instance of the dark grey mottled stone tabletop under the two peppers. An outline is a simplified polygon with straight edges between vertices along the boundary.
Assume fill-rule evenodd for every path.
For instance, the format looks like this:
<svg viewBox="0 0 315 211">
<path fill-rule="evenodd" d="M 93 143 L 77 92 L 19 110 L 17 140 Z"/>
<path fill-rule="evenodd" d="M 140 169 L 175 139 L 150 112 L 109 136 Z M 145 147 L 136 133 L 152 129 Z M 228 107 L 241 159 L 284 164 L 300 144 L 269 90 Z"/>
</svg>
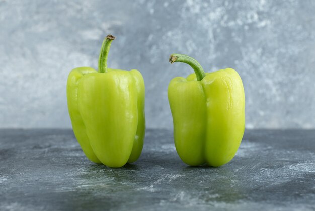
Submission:
<svg viewBox="0 0 315 211">
<path fill-rule="evenodd" d="M 71 130 L 0 130 L 0 210 L 314 210 L 315 130 L 247 130 L 234 159 L 189 167 L 148 130 L 134 164 L 87 160 Z"/>
</svg>

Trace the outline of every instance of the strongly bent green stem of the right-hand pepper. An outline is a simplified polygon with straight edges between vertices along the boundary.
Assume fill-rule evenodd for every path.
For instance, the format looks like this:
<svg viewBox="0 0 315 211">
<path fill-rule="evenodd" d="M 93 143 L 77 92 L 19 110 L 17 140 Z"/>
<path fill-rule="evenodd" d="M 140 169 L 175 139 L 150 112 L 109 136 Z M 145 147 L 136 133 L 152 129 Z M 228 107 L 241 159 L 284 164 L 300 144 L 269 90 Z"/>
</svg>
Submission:
<svg viewBox="0 0 315 211">
<path fill-rule="evenodd" d="M 174 62 L 183 62 L 190 65 L 194 69 L 198 81 L 201 81 L 206 76 L 202 66 L 198 63 L 198 61 L 196 61 L 196 59 L 190 56 L 184 54 L 172 54 L 169 61 L 171 64 Z"/>
</svg>

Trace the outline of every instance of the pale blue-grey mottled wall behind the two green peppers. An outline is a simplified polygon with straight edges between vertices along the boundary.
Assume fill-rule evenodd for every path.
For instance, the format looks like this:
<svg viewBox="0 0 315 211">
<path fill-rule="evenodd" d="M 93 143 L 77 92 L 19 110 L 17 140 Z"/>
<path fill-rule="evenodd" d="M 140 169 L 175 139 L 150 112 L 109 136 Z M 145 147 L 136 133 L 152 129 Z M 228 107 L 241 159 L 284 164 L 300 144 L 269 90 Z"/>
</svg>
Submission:
<svg viewBox="0 0 315 211">
<path fill-rule="evenodd" d="M 315 1 L 0 0 L 0 127 L 70 128 L 66 79 L 97 68 L 136 68 L 149 128 L 172 128 L 167 87 L 187 76 L 171 53 L 208 72 L 232 67 L 246 94 L 247 128 L 315 128 Z"/>
</svg>

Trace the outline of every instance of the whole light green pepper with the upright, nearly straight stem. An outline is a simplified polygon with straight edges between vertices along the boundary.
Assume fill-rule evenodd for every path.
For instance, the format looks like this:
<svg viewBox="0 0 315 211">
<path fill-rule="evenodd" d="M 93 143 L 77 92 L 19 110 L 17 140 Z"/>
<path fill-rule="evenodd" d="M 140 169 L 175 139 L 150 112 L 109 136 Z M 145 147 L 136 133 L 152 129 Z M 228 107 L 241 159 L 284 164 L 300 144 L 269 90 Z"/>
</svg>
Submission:
<svg viewBox="0 0 315 211">
<path fill-rule="evenodd" d="M 67 81 L 67 102 L 73 132 L 86 156 L 95 163 L 122 167 L 142 151 L 144 81 L 136 69 L 107 68 L 108 35 L 99 57 L 99 71 L 73 69 Z"/>
</svg>

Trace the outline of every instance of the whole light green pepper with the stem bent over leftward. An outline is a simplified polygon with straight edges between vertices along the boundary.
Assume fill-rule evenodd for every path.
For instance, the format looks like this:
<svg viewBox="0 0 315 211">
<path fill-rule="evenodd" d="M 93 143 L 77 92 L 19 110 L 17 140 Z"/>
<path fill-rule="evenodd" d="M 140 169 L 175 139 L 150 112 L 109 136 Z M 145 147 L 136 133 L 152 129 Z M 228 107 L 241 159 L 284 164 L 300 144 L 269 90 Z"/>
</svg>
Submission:
<svg viewBox="0 0 315 211">
<path fill-rule="evenodd" d="M 187 63 L 195 71 L 187 78 L 174 78 L 168 88 L 178 155 L 191 166 L 228 163 L 245 128 L 241 77 L 231 68 L 204 73 L 195 59 L 182 54 L 172 54 L 170 62 Z"/>
</svg>

